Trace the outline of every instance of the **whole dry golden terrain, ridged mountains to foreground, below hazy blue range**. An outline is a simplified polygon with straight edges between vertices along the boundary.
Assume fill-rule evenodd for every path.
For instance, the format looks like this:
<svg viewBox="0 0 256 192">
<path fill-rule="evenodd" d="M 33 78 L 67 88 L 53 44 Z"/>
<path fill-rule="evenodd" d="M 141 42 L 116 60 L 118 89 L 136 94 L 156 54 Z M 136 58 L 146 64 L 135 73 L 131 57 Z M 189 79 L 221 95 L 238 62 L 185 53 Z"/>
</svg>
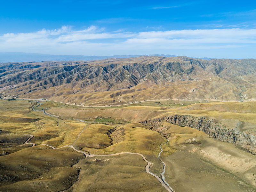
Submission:
<svg viewBox="0 0 256 192">
<path fill-rule="evenodd" d="M 0 63 L 1 192 L 255 192 L 256 60 Z"/>
</svg>

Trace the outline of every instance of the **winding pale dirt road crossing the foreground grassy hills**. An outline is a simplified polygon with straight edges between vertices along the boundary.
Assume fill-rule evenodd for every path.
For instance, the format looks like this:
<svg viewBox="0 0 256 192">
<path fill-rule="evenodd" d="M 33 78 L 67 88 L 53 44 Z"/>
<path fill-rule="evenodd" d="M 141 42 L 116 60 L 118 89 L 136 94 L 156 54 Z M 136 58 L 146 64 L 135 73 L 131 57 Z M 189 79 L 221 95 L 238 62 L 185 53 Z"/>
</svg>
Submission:
<svg viewBox="0 0 256 192">
<path fill-rule="evenodd" d="M 32 144 L 33 146 L 35 146 L 35 143 L 28 143 L 28 141 L 33 137 L 33 135 L 29 135 L 31 136 L 30 138 L 28 138 L 28 140 L 25 142 L 25 144 Z M 79 153 L 83 153 L 85 157 L 94 157 L 94 156 L 116 156 L 116 155 L 121 155 L 121 154 L 133 154 L 133 155 L 139 155 L 143 158 L 143 160 L 145 162 L 147 162 L 147 165 L 146 165 L 146 172 L 150 175 L 153 175 L 157 180 L 159 180 L 159 182 L 162 184 L 162 186 L 169 192 L 174 192 L 173 189 L 171 187 L 169 187 L 169 184 L 166 185 L 164 180 L 162 180 L 160 177 L 158 177 L 157 175 L 155 175 L 154 173 L 150 172 L 149 171 L 149 168 L 150 168 L 150 165 L 152 165 L 151 162 L 149 162 L 146 157 L 140 153 L 131 153 L 131 152 L 120 152 L 120 153 L 115 153 L 115 154 L 108 154 L 108 155 L 97 155 L 97 154 L 87 154 L 85 153 L 84 151 L 81 151 L 81 150 L 77 150 L 74 146 L 72 145 L 65 145 L 63 147 L 60 147 L 60 148 L 55 148 L 55 147 L 52 147 L 50 145 L 47 145 L 47 144 L 41 144 L 41 145 L 45 145 L 45 146 L 48 146 L 52 149 L 60 149 L 60 148 L 64 148 L 64 147 L 70 147 L 72 149 L 74 149 L 75 151 L 79 152 Z M 162 144 L 161 144 L 162 145 Z M 162 150 L 162 148 L 161 148 Z M 161 151 L 162 152 L 162 151 Z M 161 153 L 160 152 L 160 153 Z"/>
</svg>

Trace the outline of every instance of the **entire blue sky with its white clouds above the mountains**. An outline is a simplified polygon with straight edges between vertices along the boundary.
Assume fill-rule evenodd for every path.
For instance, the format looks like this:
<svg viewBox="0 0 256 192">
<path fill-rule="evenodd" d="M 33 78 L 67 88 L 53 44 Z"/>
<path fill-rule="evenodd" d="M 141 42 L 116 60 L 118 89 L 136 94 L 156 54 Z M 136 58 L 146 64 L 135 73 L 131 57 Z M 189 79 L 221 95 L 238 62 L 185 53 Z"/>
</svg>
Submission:
<svg viewBox="0 0 256 192">
<path fill-rule="evenodd" d="M 256 58 L 255 1 L 1 1 L 0 52 Z"/>
</svg>

